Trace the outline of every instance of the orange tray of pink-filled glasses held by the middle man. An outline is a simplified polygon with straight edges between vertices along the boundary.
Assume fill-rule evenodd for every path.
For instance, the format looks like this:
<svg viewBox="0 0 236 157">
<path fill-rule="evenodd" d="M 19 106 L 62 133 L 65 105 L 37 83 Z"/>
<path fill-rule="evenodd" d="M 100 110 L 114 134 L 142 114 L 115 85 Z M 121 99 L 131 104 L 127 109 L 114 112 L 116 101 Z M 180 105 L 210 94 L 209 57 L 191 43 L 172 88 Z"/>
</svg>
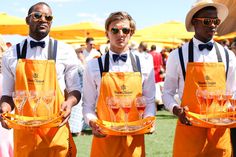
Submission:
<svg viewBox="0 0 236 157">
<path fill-rule="evenodd" d="M 107 97 L 106 104 L 109 108 L 112 121 L 97 121 L 97 124 L 106 134 L 117 136 L 144 134 L 150 132 L 155 123 L 155 117 L 143 119 L 143 113 L 146 108 L 146 99 L 144 96 L 137 97 L 135 100 L 126 97 Z M 136 111 L 139 114 L 139 119 L 136 121 L 128 121 L 132 104 L 135 104 Z M 118 112 L 124 113 L 124 121 L 116 121 Z"/>
</svg>

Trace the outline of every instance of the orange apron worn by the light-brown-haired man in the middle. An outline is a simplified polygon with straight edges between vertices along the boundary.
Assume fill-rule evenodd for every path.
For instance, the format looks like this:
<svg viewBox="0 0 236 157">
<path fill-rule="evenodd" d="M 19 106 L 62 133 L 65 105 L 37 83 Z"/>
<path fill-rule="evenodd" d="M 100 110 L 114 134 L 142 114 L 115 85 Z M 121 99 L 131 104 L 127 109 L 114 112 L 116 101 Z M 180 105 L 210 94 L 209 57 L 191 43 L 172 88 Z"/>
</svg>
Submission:
<svg viewBox="0 0 236 157">
<path fill-rule="evenodd" d="M 134 71 L 134 58 L 130 53 Z M 101 58 L 98 60 L 101 61 Z M 137 60 L 137 58 L 136 58 Z M 101 63 L 101 62 L 100 62 Z M 142 79 L 140 72 L 108 72 L 109 53 L 106 54 L 105 71 L 102 71 L 100 95 L 97 103 L 97 114 L 101 120 L 112 121 L 110 111 L 106 105 L 106 98 L 110 96 L 128 97 L 135 99 L 142 95 Z M 138 111 L 132 104 L 128 121 L 138 120 Z M 124 112 L 120 109 L 117 121 L 124 122 Z M 143 157 L 145 156 L 144 135 L 93 137 L 91 157 Z"/>
</svg>

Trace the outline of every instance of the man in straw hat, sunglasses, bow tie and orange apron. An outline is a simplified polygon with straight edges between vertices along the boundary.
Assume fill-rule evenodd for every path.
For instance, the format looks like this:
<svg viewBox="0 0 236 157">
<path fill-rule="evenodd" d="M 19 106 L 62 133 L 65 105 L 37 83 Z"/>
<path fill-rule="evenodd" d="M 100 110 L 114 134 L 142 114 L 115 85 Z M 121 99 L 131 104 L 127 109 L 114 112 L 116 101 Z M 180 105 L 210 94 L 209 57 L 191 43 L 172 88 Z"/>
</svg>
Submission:
<svg viewBox="0 0 236 157">
<path fill-rule="evenodd" d="M 217 26 L 227 16 L 227 8 L 210 0 L 193 5 L 186 17 L 186 28 L 195 31 L 190 42 L 170 53 L 164 83 L 165 107 L 178 116 L 174 157 L 230 157 L 230 130 L 191 126 L 185 110 L 200 113 L 196 89 L 228 90 L 236 88 L 234 54 L 213 40 Z M 178 92 L 181 105 L 174 95 Z"/>
</svg>

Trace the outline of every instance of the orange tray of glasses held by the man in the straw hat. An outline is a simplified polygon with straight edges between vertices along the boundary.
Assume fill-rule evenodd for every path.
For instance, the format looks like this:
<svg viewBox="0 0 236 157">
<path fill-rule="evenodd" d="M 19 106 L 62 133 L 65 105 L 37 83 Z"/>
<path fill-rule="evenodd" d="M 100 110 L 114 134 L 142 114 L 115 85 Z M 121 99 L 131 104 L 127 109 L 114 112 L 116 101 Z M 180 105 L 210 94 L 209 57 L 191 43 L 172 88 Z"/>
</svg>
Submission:
<svg viewBox="0 0 236 157">
<path fill-rule="evenodd" d="M 236 94 L 225 90 L 197 89 L 200 112 L 187 111 L 192 125 L 205 128 L 236 127 Z"/>
</svg>

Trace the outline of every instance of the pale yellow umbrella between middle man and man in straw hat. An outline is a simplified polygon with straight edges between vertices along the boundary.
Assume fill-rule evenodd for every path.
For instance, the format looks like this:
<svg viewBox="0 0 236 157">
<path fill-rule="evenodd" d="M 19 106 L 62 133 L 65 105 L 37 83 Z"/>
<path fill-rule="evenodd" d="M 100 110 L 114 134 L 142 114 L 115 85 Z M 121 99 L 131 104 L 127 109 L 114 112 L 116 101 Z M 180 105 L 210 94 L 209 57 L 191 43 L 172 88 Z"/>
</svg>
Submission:
<svg viewBox="0 0 236 157">
<path fill-rule="evenodd" d="M 193 32 L 187 32 L 185 24 L 177 21 L 169 21 L 159 25 L 151 26 L 139 30 L 134 36 L 156 37 L 156 38 L 175 38 L 190 39 Z"/>
</svg>

